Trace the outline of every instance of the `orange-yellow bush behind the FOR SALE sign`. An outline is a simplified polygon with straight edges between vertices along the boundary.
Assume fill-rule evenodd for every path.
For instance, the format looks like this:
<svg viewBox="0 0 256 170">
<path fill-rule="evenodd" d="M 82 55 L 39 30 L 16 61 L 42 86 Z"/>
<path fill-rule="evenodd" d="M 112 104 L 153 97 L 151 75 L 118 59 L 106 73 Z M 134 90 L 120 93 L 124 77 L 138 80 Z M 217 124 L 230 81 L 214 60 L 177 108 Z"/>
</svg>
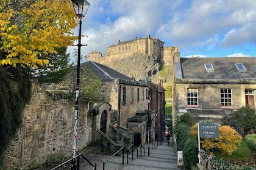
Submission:
<svg viewBox="0 0 256 170">
<path fill-rule="evenodd" d="M 194 134 L 194 137 L 197 137 L 197 123 L 191 127 L 191 133 Z M 201 146 L 210 151 L 217 149 L 222 154 L 232 155 L 233 151 L 236 151 L 240 146 L 242 139 L 243 137 L 235 129 L 219 124 L 219 138 L 202 138 Z"/>
</svg>

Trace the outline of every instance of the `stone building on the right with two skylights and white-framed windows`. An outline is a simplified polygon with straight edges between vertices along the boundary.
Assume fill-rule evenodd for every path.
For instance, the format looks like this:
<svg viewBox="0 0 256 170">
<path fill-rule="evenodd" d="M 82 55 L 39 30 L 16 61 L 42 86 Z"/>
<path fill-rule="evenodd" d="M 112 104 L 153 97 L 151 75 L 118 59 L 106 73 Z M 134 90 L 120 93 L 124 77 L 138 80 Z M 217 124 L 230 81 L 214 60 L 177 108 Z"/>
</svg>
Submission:
<svg viewBox="0 0 256 170">
<path fill-rule="evenodd" d="M 176 58 L 174 66 L 174 123 L 183 113 L 221 123 L 233 110 L 255 107 L 255 57 Z"/>
</svg>

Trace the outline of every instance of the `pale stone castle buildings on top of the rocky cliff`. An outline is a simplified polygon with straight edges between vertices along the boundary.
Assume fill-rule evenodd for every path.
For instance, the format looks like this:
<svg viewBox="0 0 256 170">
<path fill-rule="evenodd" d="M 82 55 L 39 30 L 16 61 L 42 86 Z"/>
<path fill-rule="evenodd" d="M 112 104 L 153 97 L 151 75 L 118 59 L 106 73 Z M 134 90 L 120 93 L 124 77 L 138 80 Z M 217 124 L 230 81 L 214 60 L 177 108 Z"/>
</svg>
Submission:
<svg viewBox="0 0 256 170">
<path fill-rule="evenodd" d="M 118 44 L 107 48 L 107 53 L 102 56 L 99 51 L 91 51 L 88 54 L 88 60 L 96 63 L 110 63 L 115 60 L 127 58 L 134 53 L 142 53 L 148 55 L 157 55 L 160 63 L 172 66 L 174 56 L 180 56 L 178 47 L 163 47 L 164 42 L 157 37 L 148 34 L 145 38 L 136 37 L 129 41 L 119 41 Z"/>
</svg>

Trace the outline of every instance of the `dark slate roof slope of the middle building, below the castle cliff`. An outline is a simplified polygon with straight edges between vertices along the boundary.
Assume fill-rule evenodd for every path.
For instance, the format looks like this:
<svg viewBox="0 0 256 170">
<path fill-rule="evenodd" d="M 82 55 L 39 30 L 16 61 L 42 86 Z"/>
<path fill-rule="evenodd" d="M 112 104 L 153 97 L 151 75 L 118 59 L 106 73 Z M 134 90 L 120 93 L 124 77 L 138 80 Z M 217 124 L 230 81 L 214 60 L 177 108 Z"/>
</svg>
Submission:
<svg viewBox="0 0 256 170">
<path fill-rule="evenodd" d="M 94 70 L 94 72 L 100 75 L 101 80 L 124 80 L 124 81 L 131 81 L 130 77 L 123 75 L 122 73 L 117 72 L 116 70 L 111 69 L 110 67 L 104 66 L 102 64 L 88 61 L 87 66 Z"/>
</svg>

